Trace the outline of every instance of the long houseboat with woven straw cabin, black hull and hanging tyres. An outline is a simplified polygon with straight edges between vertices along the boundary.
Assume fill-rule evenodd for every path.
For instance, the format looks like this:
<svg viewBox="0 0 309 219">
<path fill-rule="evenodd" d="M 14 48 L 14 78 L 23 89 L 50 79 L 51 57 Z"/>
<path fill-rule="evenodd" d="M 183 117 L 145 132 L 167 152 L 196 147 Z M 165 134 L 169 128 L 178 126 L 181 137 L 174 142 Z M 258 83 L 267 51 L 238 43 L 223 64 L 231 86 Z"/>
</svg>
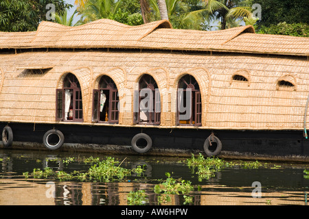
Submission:
<svg viewBox="0 0 309 219">
<path fill-rule="evenodd" d="M 309 38 L 251 25 L 0 32 L 1 147 L 309 161 L 308 60 Z"/>
</svg>

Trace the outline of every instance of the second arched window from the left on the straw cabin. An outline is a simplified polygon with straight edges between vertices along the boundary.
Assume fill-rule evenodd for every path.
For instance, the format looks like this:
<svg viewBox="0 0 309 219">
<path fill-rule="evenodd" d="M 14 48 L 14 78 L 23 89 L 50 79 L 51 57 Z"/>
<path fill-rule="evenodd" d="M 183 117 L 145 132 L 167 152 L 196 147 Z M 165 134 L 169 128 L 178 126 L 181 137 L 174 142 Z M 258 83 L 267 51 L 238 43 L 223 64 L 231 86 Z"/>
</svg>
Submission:
<svg viewBox="0 0 309 219">
<path fill-rule="evenodd" d="M 99 88 L 93 90 L 93 121 L 102 123 L 119 122 L 119 95 L 111 77 L 102 76 Z"/>
</svg>

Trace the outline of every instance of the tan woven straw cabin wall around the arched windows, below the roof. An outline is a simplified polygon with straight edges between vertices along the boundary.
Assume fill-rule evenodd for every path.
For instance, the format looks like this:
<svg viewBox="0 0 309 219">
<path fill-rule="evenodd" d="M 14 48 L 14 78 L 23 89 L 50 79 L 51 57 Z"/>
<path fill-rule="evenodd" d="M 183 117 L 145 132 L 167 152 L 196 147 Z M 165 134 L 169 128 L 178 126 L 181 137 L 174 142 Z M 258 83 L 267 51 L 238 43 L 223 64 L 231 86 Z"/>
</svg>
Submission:
<svg viewBox="0 0 309 219">
<path fill-rule="evenodd" d="M 159 51 L 49 51 L 0 57 L 1 121 L 55 123 L 56 88 L 62 87 L 67 73 L 73 73 L 82 88 L 85 124 L 91 123 L 92 91 L 98 88 L 102 75 L 108 75 L 117 85 L 120 101 L 125 102 L 122 107 L 128 109 L 120 114 L 119 125 L 133 125 L 129 100 L 133 101 L 135 83 L 148 74 L 157 81 L 164 104 L 160 126 L 173 127 L 174 91 L 179 79 L 190 74 L 201 90 L 202 128 L 304 128 L 309 68 L 308 61 L 301 58 Z M 43 75 L 19 69 L 47 64 L 53 68 Z M 249 81 L 233 81 L 236 74 Z M 295 90 L 278 90 L 279 79 L 295 83 Z"/>
</svg>

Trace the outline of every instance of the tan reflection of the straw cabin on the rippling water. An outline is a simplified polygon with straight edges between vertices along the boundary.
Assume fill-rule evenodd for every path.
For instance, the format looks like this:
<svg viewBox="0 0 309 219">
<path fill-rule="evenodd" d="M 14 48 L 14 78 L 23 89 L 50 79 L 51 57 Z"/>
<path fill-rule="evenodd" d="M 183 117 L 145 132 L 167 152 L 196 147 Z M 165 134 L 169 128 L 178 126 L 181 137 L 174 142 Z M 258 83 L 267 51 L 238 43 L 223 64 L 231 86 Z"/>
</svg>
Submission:
<svg viewBox="0 0 309 219">
<path fill-rule="evenodd" d="M 4 184 L 3 184 L 4 183 Z M 48 186 L 46 186 L 48 185 Z M 1 181 L 0 205 L 127 205 L 127 195 L 133 190 L 146 190 L 148 205 L 158 205 L 153 185 L 136 183 L 32 183 L 11 180 Z M 203 191 L 194 192 L 192 205 L 305 205 L 301 191 L 263 192 L 262 198 L 252 198 L 252 188 L 222 188 L 202 185 Z M 55 196 L 50 196 L 50 192 Z M 198 194 L 196 194 L 198 193 Z M 170 195 L 167 205 L 183 205 L 183 196 Z M 161 205 L 165 205 L 161 203 Z"/>
</svg>

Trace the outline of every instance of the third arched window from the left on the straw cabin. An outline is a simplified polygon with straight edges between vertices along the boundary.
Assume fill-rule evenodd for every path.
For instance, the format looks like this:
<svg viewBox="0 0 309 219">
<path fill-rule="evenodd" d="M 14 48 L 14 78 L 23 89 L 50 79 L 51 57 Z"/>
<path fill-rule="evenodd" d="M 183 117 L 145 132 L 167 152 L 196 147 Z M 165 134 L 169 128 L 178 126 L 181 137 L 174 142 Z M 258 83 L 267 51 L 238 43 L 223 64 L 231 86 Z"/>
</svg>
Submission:
<svg viewBox="0 0 309 219">
<path fill-rule="evenodd" d="M 161 97 L 157 82 L 150 75 L 144 75 L 139 80 L 138 96 L 135 95 L 135 122 L 159 125 L 161 120 Z"/>
</svg>

